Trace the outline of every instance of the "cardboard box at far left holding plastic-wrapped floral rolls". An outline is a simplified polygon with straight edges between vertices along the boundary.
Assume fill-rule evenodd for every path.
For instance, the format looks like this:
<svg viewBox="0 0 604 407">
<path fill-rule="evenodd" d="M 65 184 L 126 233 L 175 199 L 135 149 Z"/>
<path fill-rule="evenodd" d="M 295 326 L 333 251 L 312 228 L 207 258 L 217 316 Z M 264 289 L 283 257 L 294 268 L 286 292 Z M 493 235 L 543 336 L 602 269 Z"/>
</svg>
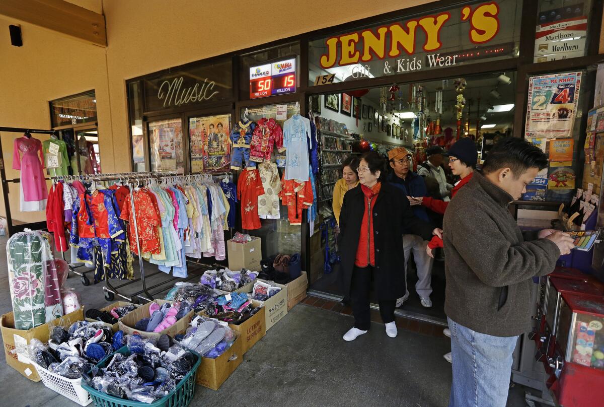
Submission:
<svg viewBox="0 0 604 407">
<path fill-rule="evenodd" d="M 27 345 L 30 344 L 31 339 L 36 338 L 40 342 L 46 343 L 48 342 L 52 327 L 69 328 L 74 322 L 83 320 L 84 307 L 39 327 L 20 330 L 14 328 L 14 316 L 12 312 L 2 315 L 0 317 L 0 329 L 2 330 L 2 342 L 4 342 L 4 357 L 6 358 L 6 362 L 23 376 L 33 382 L 39 382 L 40 376 L 38 376 L 36 368 L 30 365 L 30 359 L 27 355 Z"/>
</svg>

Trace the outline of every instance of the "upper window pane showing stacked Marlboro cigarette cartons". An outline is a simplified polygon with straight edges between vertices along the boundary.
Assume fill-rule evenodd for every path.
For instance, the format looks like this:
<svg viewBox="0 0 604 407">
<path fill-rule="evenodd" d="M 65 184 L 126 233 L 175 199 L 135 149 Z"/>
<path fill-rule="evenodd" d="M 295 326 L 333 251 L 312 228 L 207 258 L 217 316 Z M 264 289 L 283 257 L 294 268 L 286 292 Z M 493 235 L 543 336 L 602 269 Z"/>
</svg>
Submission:
<svg viewBox="0 0 604 407">
<path fill-rule="evenodd" d="M 534 62 L 585 56 L 591 0 L 540 0 Z"/>
</svg>

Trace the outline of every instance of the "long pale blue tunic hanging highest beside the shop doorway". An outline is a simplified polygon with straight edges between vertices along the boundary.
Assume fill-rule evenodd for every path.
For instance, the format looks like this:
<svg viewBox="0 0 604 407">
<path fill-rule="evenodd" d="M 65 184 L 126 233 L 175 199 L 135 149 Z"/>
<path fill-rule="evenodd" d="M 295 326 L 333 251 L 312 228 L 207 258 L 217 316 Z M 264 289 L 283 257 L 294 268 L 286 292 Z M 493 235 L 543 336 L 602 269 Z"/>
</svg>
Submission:
<svg viewBox="0 0 604 407">
<path fill-rule="evenodd" d="M 294 114 L 283 123 L 284 146 L 287 149 L 284 179 L 308 180 L 308 142 L 310 120 Z"/>
</svg>

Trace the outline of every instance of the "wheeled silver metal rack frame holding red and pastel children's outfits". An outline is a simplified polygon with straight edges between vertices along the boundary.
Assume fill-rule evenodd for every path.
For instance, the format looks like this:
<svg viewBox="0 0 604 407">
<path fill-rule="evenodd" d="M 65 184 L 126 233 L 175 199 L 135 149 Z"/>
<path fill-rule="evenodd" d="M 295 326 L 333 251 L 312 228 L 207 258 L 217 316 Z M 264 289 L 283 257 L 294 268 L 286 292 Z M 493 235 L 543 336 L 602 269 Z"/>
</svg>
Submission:
<svg viewBox="0 0 604 407">
<path fill-rule="evenodd" d="M 133 226 L 134 226 L 134 231 L 135 231 L 135 237 L 136 237 L 136 242 L 135 244 L 137 244 L 137 252 L 138 252 L 138 268 L 139 268 L 139 272 L 140 272 L 140 277 L 139 278 L 135 278 L 131 281 L 127 281 L 124 282 L 120 285 L 113 285 L 111 283 L 111 281 L 109 281 L 109 276 L 108 276 L 108 271 L 106 268 L 104 268 L 104 282 L 105 285 L 103 286 L 103 291 L 104 291 L 104 297 L 107 301 L 113 301 L 115 296 L 119 296 L 123 299 L 126 299 L 127 301 L 130 302 L 139 302 L 140 300 L 143 301 L 153 301 L 154 296 L 158 295 L 159 293 L 161 293 L 162 291 L 165 290 L 165 285 L 172 283 L 174 284 L 175 281 L 189 281 L 191 279 L 194 278 L 199 278 L 198 274 L 192 273 L 194 272 L 198 272 L 198 271 L 203 271 L 205 272 L 206 270 L 210 270 L 214 267 L 222 267 L 221 264 L 217 264 L 217 263 L 213 263 L 213 264 L 205 264 L 199 261 L 193 261 L 190 259 L 186 259 L 187 264 L 191 264 L 191 265 L 195 265 L 198 266 L 198 269 L 195 270 L 188 270 L 188 276 L 186 278 L 179 278 L 179 277 L 170 277 L 168 279 L 164 279 L 161 282 L 158 282 L 157 284 L 154 285 L 147 285 L 147 278 L 150 278 L 152 276 L 158 275 L 158 274 L 165 274 L 164 272 L 161 271 L 157 271 L 157 272 L 153 272 L 153 273 L 146 273 L 145 269 L 144 269 L 144 263 L 143 263 L 143 253 L 140 250 L 140 246 L 138 246 L 138 227 L 137 227 L 137 216 L 136 216 L 136 207 L 134 206 L 134 195 L 133 195 L 133 189 L 137 186 L 139 186 L 141 183 L 146 184 L 149 183 L 150 180 L 158 180 L 159 178 L 172 178 L 173 181 L 190 181 L 190 180 L 194 180 L 194 179 L 198 179 L 201 177 L 214 177 L 214 176 L 218 176 L 218 175 L 222 175 L 223 177 L 225 175 L 228 175 L 228 173 L 222 173 L 222 174 L 207 174 L 207 173 L 197 173 L 197 174 L 190 174 L 190 175 L 179 175 L 179 174 L 172 174 L 172 173 L 150 173 L 150 172 L 123 172 L 123 173 L 114 173 L 114 174 L 99 174 L 99 175 L 69 175 L 69 176 L 59 176 L 59 177 L 53 177 L 53 182 L 57 182 L 59 180 L 68 180 L 68 179 L 83 179 L 86 181 L 124 181 L 123 184 L 124 186 L 127 186 L 129 189 L 129 193 L 130 193 L 130 210 L 132 210 L 133 213 Z M 127 231 L 126 231 L 127 233 Z M 132 242 L 130 242 L 130 244 L 132 244 Z M 184 249 L 183 249 L 184 250 Z M 104 260 L 104 259 L 103 259 Z M 104 261 L 103 261 L 104 263 Z M 91 270 L 92 271 L 92 270 Z M 137 284 L 138 282 L 141 282 L 141 289 L 136 291 L 135 293 L 132 293 L 130 295 L 125 295 L 123 293 L 123 288 L 127 287 L 129 285 L 133 285 L 133 284 Z M 160 287 L 164 287 L 159 289 Z M 152 290 L 155 290 L 156 288 L 158 288 L 157 291 L 152 292 Z"/>
</svg>

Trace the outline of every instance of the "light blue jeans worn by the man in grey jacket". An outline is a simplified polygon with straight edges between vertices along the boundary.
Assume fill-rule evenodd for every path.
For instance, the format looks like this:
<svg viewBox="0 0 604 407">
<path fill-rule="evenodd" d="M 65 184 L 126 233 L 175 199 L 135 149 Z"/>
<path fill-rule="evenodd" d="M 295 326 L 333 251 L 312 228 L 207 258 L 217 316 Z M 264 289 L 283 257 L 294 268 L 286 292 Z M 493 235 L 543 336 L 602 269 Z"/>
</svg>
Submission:
<svg viewBox="0 0 604 407">
<path fill-rule="evenodd" d="M 453 383 L 449 407 L 506 407 L 518 336 L 492 336 L 451 318 Z"/>
</svg>

